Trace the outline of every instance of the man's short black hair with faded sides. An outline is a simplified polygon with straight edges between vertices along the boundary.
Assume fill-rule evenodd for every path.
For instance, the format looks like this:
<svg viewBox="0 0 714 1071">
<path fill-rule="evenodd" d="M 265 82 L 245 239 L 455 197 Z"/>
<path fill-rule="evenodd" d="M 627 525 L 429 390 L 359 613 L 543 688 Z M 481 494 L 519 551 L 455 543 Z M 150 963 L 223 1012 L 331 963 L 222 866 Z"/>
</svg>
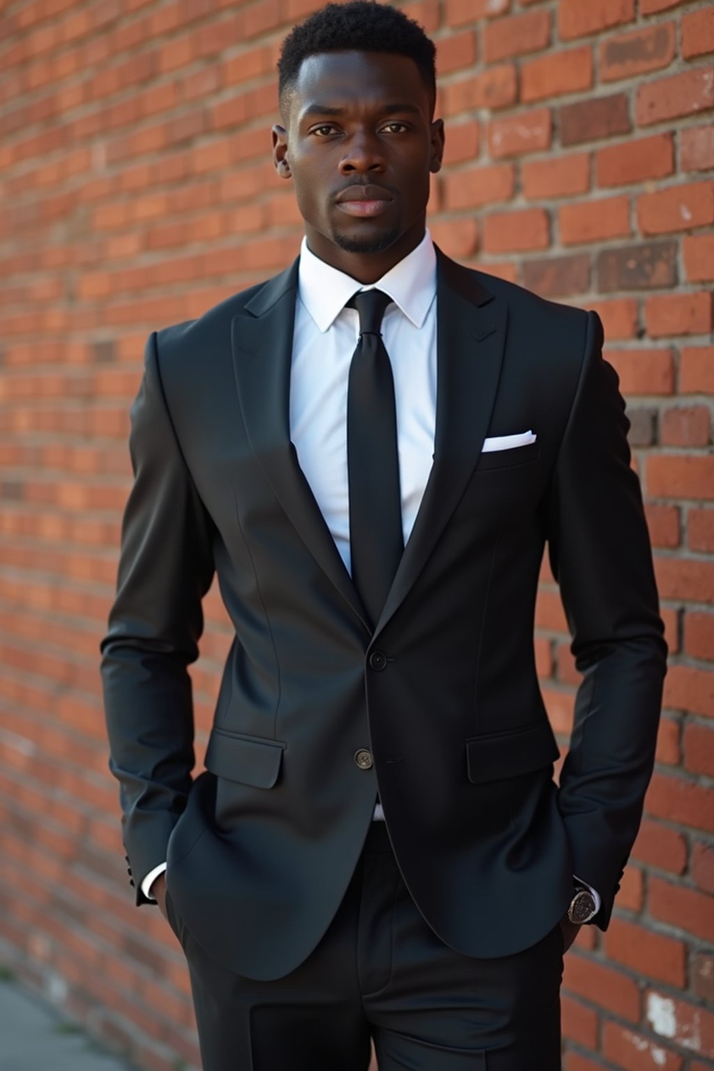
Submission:
<svg viewBox="0 0 714 1071">
<path fill-rule="evenodd" d="M 277 63 L 283 107 L 295 86 L 303 60 L 320 52 L 392 52 L 416 64 L 431 95 L 437 95 L 436 48 L 423 28 L 398 7 L 375 0 L 328 3 L 293 27 Z"/>
</svg>

